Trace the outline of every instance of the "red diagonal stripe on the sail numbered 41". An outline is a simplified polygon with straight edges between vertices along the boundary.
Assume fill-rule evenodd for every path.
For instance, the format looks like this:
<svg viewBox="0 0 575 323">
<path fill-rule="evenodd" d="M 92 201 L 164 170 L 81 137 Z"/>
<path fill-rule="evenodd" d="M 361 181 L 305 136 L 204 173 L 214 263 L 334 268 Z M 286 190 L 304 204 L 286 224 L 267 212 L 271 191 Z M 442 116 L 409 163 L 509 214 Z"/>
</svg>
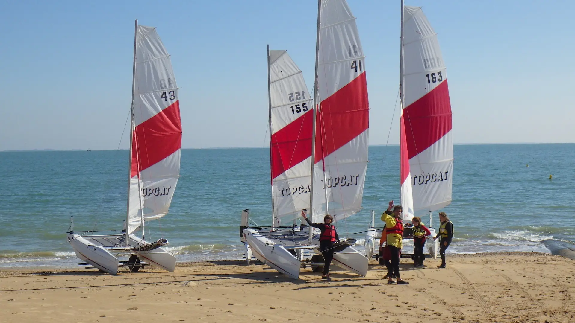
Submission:
<svg viewBox="0 0 575 323">
<path fill-rule="evenodd" d="M 321 101 L 316 131 L 316 160 L 349 143 L 369 128 L 369 100 L 365 72 Z M 320 144 L 321 143 L 321 144 Z M 323 154 L 322 154 L 323 150 Z"/>
</svg>

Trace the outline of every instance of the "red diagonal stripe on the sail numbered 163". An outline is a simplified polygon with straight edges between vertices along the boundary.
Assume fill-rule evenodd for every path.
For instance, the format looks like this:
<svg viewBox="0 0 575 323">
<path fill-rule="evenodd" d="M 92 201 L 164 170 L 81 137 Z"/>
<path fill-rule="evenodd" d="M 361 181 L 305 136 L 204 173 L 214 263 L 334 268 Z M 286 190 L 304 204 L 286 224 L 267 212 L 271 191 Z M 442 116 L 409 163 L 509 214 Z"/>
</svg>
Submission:
<svg viewBox="0 0 575 323">
<path fill-rule="evenodd" d="M 409 159 L 435 144 L 451 130 L 447 80 L 403 109 Z"/>
</svg>

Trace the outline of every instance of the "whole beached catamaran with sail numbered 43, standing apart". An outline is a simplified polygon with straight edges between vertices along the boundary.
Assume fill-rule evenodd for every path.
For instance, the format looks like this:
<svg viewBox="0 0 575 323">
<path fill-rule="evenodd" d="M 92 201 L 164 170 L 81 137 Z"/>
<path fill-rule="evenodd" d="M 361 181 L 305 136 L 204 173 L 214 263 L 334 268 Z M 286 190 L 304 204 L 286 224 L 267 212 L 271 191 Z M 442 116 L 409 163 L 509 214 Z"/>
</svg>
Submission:
<svg viewBox="0 0 575 323">
<path fill-rule="evenodd" d="M 174 271 L 175 257 L 162 248 L 168 240 L 148 242 L 144 225 L 168 213 L 178 183 L 182 146 L 178 86 L 170 55 L 156 29 L 138 25 L 137 20 L 130 124 L 128 205 L 124 228 L 79 234 L 74 232 L 72 216 L 68 242 L 76 256 L 86 262 L 81 265 L 91 265 L 89 268 L 110 274 L 117 274 L 118 266 L 137 271 L 145 264 Z M 141 230 L 141 237 L 136 236 L 137 230 Z M 127 255 L 129 260 L 118 260 Z"/>
</svg>

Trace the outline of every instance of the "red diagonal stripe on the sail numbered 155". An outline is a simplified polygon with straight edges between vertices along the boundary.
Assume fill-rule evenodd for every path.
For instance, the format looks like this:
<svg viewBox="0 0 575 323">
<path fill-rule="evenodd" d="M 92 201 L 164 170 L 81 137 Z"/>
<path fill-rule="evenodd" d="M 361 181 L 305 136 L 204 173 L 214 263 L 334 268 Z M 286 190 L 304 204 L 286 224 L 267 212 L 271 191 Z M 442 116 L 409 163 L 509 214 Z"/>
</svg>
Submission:
<svg viewBox="0 0 575 323">
<path fill-rule="evenodd" d="M 312 155 L 313 109 L 271 135 L 271 178 Z"/>
</svg>

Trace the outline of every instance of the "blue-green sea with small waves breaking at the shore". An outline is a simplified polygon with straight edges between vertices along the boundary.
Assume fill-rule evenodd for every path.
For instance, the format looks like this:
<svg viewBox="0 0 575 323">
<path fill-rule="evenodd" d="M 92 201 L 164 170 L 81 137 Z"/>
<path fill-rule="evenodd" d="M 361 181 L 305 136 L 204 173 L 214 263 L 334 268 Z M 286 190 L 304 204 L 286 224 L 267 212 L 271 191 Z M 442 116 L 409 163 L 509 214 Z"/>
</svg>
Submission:
<svg viewBox="0 0 575 323">
<path fill-rule="evenodd" d="M 549 252 L 540 241 L 575 243 L 575 144 L 455 145 L 454 223 L 448 252 Z M 399 201 L 398 147 L 369 148 L 363 209 L 338 223 L 363 243 L 375 211 Z M 241 259 L 241 210 L 271 224 L 268 148 L 183 149 L 170 213 L 150 221 L 177 260 Z M 528 167 L 527 167 L 528 165 Z M 549 179 L 553 175 L 553 179 Z M 0 267 L 74 266 L 74 229 L 121 229 L 128 151 L 0 152 Z M 434 213 L 434 227 L 439 225 Z M 428 223 L 429 217 L 423 216 Z M 147 235 L 148 237 L 148 235 Z"/>
</svg>

